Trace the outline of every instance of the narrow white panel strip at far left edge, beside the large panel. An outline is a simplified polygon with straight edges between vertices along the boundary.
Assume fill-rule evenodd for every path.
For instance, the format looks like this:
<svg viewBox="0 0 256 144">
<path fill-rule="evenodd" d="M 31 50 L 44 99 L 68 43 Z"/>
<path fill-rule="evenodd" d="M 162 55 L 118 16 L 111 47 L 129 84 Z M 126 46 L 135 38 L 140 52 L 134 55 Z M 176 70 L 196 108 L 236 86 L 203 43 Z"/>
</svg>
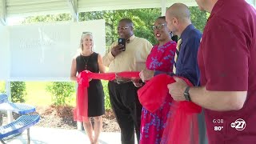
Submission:
<svg viewBox="0 0 256 144">
<path fill-rule="evenodd" d="M 0 80 L 9 78 L 10 47 L 9 32 L 7 26 L 0 25 Z"/>
</svg>

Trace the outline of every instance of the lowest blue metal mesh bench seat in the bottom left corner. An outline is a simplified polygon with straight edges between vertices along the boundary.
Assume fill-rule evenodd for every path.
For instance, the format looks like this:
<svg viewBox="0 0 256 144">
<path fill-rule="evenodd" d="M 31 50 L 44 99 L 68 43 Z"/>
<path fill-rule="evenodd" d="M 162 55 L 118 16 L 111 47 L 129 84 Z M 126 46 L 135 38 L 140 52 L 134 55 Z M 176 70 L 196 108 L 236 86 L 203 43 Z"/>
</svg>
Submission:
<svg viewBox="0 0 256 144">
<path fill-rule="evenodd" d="M 10 135 L 20 134 L 24 130 L 27 130 L 27 143 L 30 144 L 30 126 L 34 126 L 39 122 L 39 115 L 22 115 L 14 122 L 7 124 L 6 126 L 0 127 L 0 141 L 5 144 L 3 138 Z"/>
</svg>

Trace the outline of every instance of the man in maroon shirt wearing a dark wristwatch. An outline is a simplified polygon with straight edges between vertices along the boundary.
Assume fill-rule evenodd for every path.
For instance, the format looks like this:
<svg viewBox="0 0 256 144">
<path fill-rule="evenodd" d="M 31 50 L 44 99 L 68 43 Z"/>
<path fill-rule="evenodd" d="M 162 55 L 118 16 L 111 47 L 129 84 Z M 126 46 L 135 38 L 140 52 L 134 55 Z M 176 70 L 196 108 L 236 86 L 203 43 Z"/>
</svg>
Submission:
<svg viewBox="0 0 256 144">
<path fill-rule="evenodd" d="M 210 144 L 256 143 L 256 10 L 245 0 L 196 0 L 210 12 L 198 51 L 201 87 L 179 78 L 176 101 L 202 106 Z"/>
</svg>

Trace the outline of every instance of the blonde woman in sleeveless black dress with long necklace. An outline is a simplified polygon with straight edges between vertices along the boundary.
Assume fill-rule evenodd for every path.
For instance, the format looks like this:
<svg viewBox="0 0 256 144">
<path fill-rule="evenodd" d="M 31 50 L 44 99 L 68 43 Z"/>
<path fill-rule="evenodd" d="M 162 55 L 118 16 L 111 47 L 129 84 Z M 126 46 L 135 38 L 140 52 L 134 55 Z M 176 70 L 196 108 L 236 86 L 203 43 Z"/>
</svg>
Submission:
<svg viewBox="0 0 256 144">
<path fill-rule="evenodd" d="M 72 61 L 70 72 L 71 80 L 77 81 L 77 74 L 83 70 L 90 70 L 93 73 L 105 73 L 105 66 L 103 66 L 102 56 L 92 50 L 94 40 L 93 35 L 90 32 L 82 33 L 80 46 L 80 54 L 74 57 Z M 90 139 L 90 143 L 98 143 L 98 137 L 102 131 L 102 114 L 104 113 L 105 107 L 102 82 L 97 79 L 92 79 L 90 80 L 90 86 L 88 87 L 87 117 L 74 113 L 74 120 L 83 122 L 83 126 Z M 90 117 L 94 118 L 94 136 Z"/>
</svg>

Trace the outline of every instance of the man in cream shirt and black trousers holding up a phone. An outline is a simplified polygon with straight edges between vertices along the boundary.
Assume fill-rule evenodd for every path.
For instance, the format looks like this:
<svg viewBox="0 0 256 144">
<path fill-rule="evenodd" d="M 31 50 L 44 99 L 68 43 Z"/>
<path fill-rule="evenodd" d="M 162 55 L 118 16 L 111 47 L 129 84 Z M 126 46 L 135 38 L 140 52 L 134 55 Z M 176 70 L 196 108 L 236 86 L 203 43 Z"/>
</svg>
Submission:
<svg viewBox="0 0 256 144">
<path fill-rule="evenodd" d="M 118 35 L 118 41 L 103 57 L 103 64 L 109 67 L 109 72 L 145 69 L 152 44 L 145 38 L 134 36 L 134 24 L 129 18 L 119 21 Z M 134 128 L 139 141 L 142 105 L 138 101 L 138 87 L 127 79 L 117 78 L 109 82 L 108 88 L 110 103 L 121 129 L 122 144 L 134 143 Z"/>
</svg>

